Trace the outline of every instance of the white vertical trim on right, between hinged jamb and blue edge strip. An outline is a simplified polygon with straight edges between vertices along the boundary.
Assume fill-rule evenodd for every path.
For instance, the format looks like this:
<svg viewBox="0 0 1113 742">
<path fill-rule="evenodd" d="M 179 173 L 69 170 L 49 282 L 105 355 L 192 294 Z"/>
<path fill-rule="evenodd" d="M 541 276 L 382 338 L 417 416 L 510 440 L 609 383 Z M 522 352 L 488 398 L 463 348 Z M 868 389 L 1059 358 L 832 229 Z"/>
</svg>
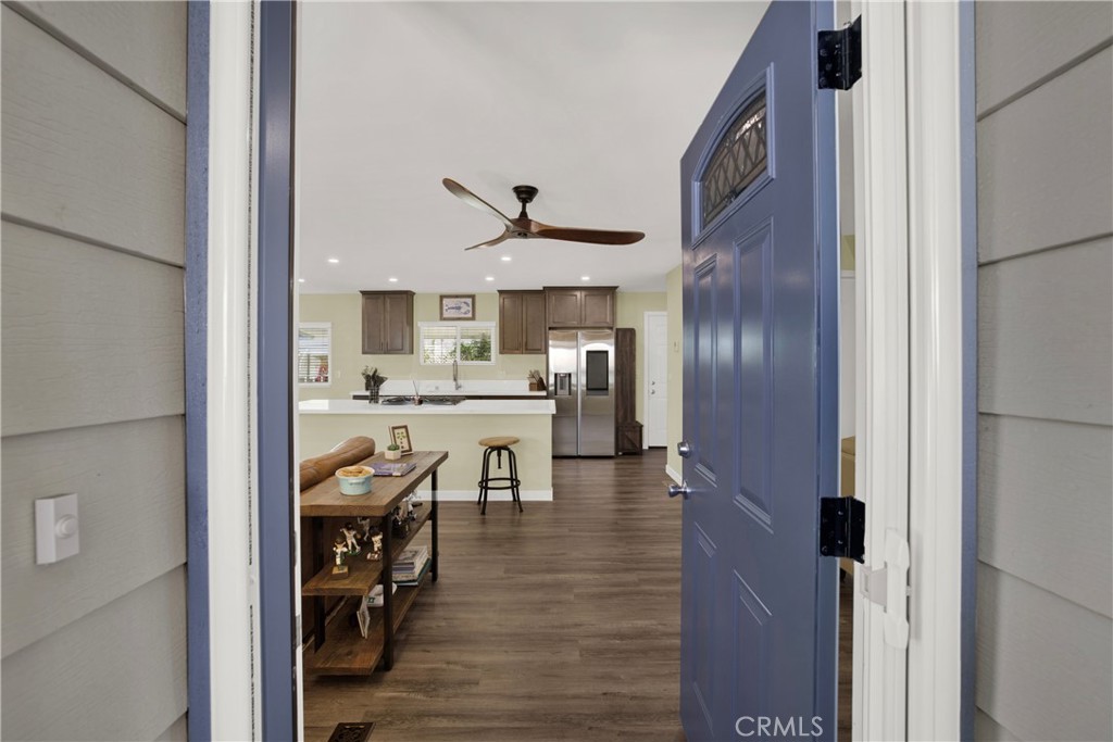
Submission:
<svg viewBox="0 0 1113 742">
<path fill-rule="evenodd" d="M 910 284 L 908 739 L 962 738 L 959 3 L 907 8 Z"/>
</svg>

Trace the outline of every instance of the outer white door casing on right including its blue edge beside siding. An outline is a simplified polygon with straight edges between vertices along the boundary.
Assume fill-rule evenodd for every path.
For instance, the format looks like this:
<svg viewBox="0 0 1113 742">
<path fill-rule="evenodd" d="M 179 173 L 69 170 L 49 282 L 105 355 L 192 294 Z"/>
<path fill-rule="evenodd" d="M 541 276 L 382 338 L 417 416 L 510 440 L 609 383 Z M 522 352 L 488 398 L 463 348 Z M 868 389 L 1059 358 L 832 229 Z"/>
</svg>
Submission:
<svg viewBox="0 0 1113 742">
<path fill-rule="evenodd" d="M 976 228 L 972 2 L 907 3 L 909 739 L 973 738 Z M 917 556 L 919 558 L 917 558 Z M 964 606 L 966 610 L 964 610 Z"/>
</svg>

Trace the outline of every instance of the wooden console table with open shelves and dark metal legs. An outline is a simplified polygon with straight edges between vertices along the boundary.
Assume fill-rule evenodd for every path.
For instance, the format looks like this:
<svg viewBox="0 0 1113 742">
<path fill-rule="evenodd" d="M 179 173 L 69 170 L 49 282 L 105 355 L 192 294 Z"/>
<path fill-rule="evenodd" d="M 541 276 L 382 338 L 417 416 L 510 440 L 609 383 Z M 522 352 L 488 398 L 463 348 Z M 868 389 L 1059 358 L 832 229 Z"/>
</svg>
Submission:
<svg viewBox="0 0 1113 742">
<path fill-rule="evenodd" d="M 426 581 L 436 582 L 436 469 L 449 453 L 444 451 L 420 451 L 403 457 L 404 462 L 416 464 L 416 468 L 405 476 L 376 476 L 371 492 L 366 495 L 342 495 L 339 483 L 331 476 L 302 493 L 302 517 L 313 521 L 313 570 L 314 575 L 302 586 L 302 595 L 314 598 L 314 652 L 305 657 L 305 672 L 319 675 L 366 675 L 383 662 L 383 669 L 394 666 L 394 632 L 402 624 L 417 593 Z M 375 454 L 359 462 L 371 464 L 386 461 L 383 454 Z M 388 516 L 395 507 L 426 478 L 432 477 L 433 496 L 427 507 L 417 512 L 417 521 L 411 523 L 410 533 L 404 538 L 393 538 Z M 324 520 L 328 516 L 370 517 L 377 521 L 383 534 L 383 558 L 370 562 L 365 558 L 348 561 L 348 574 L 334 577 L 332 560 L 325 557 Z M 393 591 L 394 560 L 402 553 L 422 527 L 429 523 L 432 531 L 429 575 L 417 585 L 398 587 Z M 383 606 L 371 609 L 372 623 L 366 639 L 357 626 L 346 621 L 336 622 L 332 631 L 325 629 L 324 598 L 329 595 L 366 597 L 376 584 L 383 585 Z"/>
</svg>

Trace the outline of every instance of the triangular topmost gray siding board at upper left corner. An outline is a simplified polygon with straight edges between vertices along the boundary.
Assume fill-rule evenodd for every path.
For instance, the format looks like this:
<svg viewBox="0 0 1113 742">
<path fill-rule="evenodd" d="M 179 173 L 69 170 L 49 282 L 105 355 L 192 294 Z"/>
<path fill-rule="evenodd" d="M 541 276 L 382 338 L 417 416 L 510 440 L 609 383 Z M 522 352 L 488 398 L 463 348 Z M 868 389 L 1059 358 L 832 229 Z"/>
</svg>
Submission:
<svg viewBox="0 0 1113 742">
<path fill-rule="evenodd" d="M 141 96 L 186 118 L 186 3 L 12 2 Z M 137 29 L 142 32 L 137 33 Z"/>
</svg>

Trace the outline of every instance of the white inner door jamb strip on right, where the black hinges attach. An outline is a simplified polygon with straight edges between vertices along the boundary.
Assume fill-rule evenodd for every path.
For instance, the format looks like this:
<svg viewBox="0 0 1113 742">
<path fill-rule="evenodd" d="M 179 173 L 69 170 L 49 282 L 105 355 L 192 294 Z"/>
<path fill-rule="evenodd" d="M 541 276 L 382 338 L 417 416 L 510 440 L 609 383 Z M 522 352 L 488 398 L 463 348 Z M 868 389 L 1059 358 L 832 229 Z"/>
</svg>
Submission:
<svg viewBox="0 0 1113 742">
<path fill-rule="evenodd" d="M 863 78 L 851 91 L 855 154 L 855 479 L 866 502 L 866 558 L 886 531 L 908 537 L 908 192 L 905 6 L 854 2 Z M 864 580 L 855 567 L 855 584 Z M 907 650 L 884 641 L 884 612 L 854 595 L 851 738 L 906 738 Z"/>
</svg>

